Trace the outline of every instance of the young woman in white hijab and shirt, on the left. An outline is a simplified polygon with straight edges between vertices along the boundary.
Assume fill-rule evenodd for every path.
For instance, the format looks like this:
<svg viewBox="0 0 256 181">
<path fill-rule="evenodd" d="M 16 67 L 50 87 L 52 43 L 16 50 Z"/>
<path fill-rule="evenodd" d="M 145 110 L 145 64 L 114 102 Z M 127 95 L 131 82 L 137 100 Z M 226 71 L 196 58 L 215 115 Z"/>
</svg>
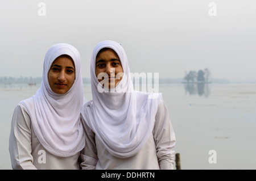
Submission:
<svg viewBox="0 0 256 181">
<path fill-rule="evenodd" d="M 18 103 L 9 138 L 13 169 L 80 169 L 85 137 L 79 51 L 60 43 L 48 49 L 36 94 Z"/>
</svg>

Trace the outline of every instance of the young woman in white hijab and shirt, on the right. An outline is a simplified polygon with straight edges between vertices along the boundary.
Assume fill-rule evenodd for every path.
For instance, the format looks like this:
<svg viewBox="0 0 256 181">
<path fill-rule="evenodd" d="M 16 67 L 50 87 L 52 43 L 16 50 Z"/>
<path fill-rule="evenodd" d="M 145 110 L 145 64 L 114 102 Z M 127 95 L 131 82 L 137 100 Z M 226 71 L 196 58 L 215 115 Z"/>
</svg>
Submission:
<svg viewBox="0 0 256 181">
<path fill-rule="evenodd" d="M 82 169 L 174 169 L 176 140 L 162 94 L 134 90 L 121 44 L 96 45 L 90 76 Z"/>
</svg>

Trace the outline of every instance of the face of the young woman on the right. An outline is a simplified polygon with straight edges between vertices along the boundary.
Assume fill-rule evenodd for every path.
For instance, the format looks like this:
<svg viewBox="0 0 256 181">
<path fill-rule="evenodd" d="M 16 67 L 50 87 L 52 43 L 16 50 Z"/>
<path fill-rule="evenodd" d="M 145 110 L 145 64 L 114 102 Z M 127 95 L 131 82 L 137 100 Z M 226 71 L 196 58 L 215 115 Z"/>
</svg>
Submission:
<svg viewBox="0 0 256 181">
<path fill-rule="evenodd" d="M 97 54 L 95 73 L 98 81 L 104 87 L 108 85 L 109 89 L 114 88 L 121 81 L 123 68 L 117 53 L 113 49 L 104 49 Z M 100 73 L 106 73 L 105 78 Z"/>
</svg>

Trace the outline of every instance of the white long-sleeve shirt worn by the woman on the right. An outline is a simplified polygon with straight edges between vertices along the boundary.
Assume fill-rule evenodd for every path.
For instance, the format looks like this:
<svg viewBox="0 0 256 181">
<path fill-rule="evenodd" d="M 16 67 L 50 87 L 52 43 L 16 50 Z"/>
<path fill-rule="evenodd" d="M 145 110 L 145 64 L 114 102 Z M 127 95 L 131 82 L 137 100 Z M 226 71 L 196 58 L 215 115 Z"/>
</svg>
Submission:
<svg viewBox="0 0 256 181">
<path fill-rule="evenodd" d="M 174 169 L 176 139 L 167 107 L 158 104 L 152 134 L 143 148 L 133 157 L 114 157 L 105 149 L 97 135 L 82 120 L 85 128 L 85 148 L 81 153 L 82 169 L 97 170 L 159 170 Z"/>
</svg>

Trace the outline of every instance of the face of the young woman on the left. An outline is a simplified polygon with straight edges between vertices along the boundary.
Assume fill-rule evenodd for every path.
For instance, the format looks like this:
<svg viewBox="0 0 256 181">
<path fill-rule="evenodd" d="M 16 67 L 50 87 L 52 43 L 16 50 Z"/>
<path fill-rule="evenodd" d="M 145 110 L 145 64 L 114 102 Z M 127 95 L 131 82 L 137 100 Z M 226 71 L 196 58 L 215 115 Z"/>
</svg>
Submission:
<svg viewBox="0 0 256 181">
<path fill-rule="evenodd" d="M 56 94 L 65 94 L 75 82 L 75 65 L 71 57 L 60 56 L 48 71 L 49 86 Z"/>
</svg>

